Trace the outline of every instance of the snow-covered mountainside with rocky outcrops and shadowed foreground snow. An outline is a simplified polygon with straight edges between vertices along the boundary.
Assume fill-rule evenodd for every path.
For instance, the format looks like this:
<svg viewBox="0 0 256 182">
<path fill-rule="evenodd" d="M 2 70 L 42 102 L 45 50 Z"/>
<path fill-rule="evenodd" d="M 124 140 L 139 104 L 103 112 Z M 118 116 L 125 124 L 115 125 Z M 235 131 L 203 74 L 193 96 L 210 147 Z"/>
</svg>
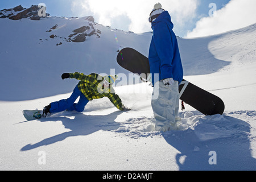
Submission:
<svg viewBox="0 0 256 182">
<path fill-rule="evenodd" d="M 6 16 L 0 17 L 1 170 L 256 169 L 256 24 L 178 38 L 184 78 L 222 98 L 225 112 L 205 116 L 185 105 L 179 130 L 160 133 L 151 86 L 128 85 L 133 75 L 116 62 L 125 47 L 148 55 L 152 32 L 115 30 L 92 16 L 13 20 L 6 12 L 0 11 Z M 78 81 L 61 80 L 64 72 L 114 72 L 127 80 L 117 81 L 115 92 L 131 110 L 119 111 L 102 98 L 82 113 L 27 122 L 22 110 L 69 97 Z"/>
</svg>

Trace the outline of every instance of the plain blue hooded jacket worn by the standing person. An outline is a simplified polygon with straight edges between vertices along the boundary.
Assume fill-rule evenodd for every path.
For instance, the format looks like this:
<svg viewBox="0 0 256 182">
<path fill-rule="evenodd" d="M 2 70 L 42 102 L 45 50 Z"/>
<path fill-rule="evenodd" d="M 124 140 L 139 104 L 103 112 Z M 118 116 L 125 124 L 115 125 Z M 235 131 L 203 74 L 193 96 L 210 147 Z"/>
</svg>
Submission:
<svg viewBox="0 0 256 182">
<path fill-rule="evenodd" d="M 180 59 L 177 38 L 172 31 L 174 24 L 168 11 L 164 11 L 152 22 L 152 40 L 148 60 L 152 73 L 152 84 L 165 78 L 183 80 L 183 68 Z M 155 80 L 154 73 L 159 73 L 159 79 Z"/>
</svg>

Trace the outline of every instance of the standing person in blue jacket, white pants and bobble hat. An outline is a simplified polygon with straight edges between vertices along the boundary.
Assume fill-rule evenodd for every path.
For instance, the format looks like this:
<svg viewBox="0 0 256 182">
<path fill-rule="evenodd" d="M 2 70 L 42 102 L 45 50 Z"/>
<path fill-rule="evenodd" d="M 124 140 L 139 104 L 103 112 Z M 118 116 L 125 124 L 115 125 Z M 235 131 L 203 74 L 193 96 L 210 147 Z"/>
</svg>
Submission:
<svg viewBox="0 0 256 182">
<path fill-rule="evenodd" d="M 177 38 L 172 31 L 174 24 L 168 11 L 160 3 L 155 4 L 149 22 L 153 30 L 148 60 L 154 85 L 152 109 L 156 119 L 156 130 L 176 129 L 179 111 L 179 82 L 183 80 L 183 67 L 180 59 Z"/>
</svg>

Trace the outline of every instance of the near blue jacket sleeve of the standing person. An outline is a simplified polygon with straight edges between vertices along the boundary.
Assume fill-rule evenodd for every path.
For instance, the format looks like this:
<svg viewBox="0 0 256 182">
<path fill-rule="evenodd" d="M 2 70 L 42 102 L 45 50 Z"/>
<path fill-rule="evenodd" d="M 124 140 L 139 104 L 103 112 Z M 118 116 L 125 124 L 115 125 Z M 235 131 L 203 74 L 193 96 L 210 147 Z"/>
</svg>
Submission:
<svg viewBox="0 0 256 182">
<path fill-rule="evenodd" d="M 173 78 L 172 60 L 174 59 L 174 48 L 167 23 L 159 22 L 156 24 L 153 36 L 156 52 L 160 58 L 160 77 L 162 79 Z"/>
</svg>

